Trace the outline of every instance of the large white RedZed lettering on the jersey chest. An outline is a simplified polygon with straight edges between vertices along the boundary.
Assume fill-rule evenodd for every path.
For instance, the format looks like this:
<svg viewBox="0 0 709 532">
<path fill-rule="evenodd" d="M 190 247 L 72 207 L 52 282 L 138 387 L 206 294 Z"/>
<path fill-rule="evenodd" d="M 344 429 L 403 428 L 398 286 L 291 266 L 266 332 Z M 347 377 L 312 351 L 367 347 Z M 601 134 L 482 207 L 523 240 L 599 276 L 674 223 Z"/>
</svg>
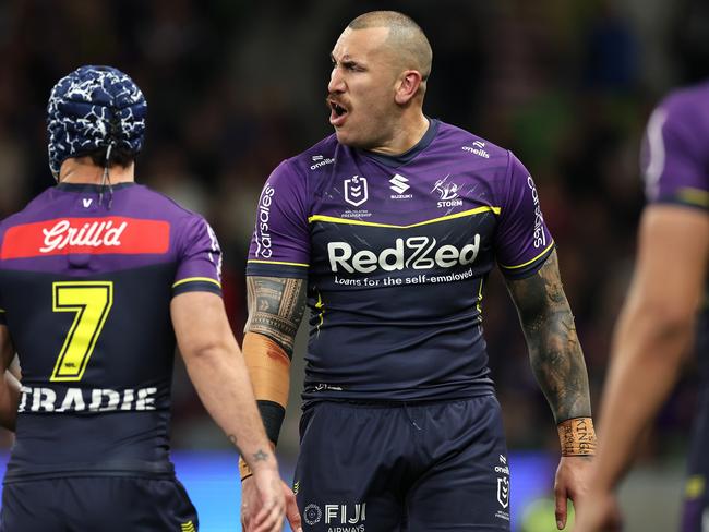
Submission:
<svg viewBox="0 0 709 532">
<path fill-rule="evenodd" d="M 371 250 L 356 252 L 347 242 L 329 242 L 327 256 L 333 273 L 340 271 L 340 268 L 349 274 L 356 271 L 370 274 L 377 268 L 384 271 L 405 268 L 452 268 L 474 262 L 480 251 L 480 234 L 474 235 L 472 243 L 460 249 L 450 244 L 442 246 L 436 246 L 436 244 L 437 241 L 433 237 L 396 239 L 394 246 L 385 247 L 377 254 Z"/>
</svg>

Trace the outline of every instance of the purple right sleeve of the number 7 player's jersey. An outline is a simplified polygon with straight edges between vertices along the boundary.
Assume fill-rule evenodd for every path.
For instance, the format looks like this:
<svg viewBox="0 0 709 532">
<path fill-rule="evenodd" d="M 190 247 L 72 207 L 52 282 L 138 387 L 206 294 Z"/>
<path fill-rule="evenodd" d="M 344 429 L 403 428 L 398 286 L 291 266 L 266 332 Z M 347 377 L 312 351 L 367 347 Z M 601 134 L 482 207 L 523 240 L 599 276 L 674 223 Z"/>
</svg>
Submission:
<svg viewBox="0 0 709 532">
<path fill-rule="evenodd" d="M 183 226 L 180 239 L 172 295 L 193 291 L 221 295 L 221 250 L 212 227 L 193 215 Z"/>
</svg>

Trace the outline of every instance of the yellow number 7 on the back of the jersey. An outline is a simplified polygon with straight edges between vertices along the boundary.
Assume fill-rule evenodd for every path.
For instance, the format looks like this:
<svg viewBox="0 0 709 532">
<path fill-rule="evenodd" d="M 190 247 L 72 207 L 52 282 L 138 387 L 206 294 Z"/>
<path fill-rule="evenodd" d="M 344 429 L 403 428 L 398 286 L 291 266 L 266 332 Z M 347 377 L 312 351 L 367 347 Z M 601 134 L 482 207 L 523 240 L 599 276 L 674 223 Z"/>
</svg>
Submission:
<svg viewBox="0 0 709 532">
<path fill-rule="evenodd" d="M 56 281 L 52 311 L 74 312 L 50 380 L 81 380 L 113 304 L 111 281 Z"/>
</svg>

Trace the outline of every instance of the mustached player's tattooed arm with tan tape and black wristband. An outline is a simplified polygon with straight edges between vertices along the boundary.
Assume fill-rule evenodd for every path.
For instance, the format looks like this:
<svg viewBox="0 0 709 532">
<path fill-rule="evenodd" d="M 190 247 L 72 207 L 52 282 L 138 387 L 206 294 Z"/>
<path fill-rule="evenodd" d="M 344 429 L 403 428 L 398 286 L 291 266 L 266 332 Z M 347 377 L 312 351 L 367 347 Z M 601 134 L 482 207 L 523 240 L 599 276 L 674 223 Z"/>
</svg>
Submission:
<svg viewBox="0 0 709 532">
<path fill-rule="evenodd" d="M 247 276 L 249 319 L 243 353 L 254 387 L 266 434 L 275 448 L 286 414 L 290 387 L 290 360 L 298 326 L 305 311 L 305 280 Z M 241 522 L 249 530 L 253 519 L 255 489 L 251 470 L 239 461 L 242 480 Z M 300 530 L 300 515 L 292 491 L 281 488 L 288 505 L 288 521 Z"/>
</svg>

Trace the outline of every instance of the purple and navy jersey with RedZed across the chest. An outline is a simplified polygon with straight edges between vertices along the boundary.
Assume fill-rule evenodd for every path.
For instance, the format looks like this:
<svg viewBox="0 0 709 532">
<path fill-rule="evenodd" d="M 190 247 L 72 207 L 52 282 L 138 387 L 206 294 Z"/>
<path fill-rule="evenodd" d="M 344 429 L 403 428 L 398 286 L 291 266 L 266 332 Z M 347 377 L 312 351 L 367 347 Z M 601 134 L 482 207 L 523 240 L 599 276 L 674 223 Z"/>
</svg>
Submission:
<svg viewBox="0 0 709 532">
<path fill-rule="evenodd" d="M 437 120 L 398 157 L 328 136 L 274 170 L 256 217 L 248 275 L 308 279 L 307 400 L 491 392 L 488 274 L 553 249 L 519 160 Z"/>
</svg>

